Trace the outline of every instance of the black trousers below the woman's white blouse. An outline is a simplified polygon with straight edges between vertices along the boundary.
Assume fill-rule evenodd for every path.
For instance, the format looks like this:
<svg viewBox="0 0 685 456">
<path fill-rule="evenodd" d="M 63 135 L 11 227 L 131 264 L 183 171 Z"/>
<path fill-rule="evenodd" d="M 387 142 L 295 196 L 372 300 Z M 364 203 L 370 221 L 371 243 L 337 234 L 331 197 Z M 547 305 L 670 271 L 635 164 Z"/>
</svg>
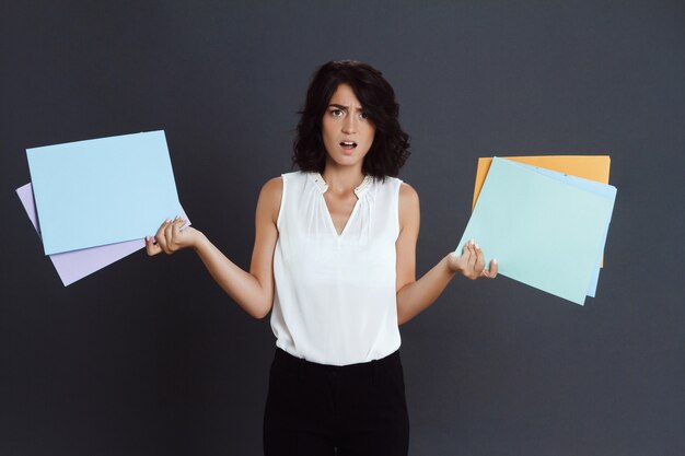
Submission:
<svg viewBox="0 0 685 456">
<path fill-rule="evenodd" d="M 264 414 L 265 456 L 406 456 L 399 352 L 346 366 L 277 349 Z"/>
</svg>

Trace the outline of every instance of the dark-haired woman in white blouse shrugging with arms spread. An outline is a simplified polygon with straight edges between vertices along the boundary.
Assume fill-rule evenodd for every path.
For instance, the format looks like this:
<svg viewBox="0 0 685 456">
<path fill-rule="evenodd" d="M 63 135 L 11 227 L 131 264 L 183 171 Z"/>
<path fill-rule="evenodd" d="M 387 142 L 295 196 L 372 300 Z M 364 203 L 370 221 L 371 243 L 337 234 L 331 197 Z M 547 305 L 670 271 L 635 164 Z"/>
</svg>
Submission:
<svg viewBox="0 0 685 456">
<path fill-rule="evenodd" d="M 461 273 L 495 278 L 469 242 L 415 278 L 419 198 L 397 179 L 408 136 L 381 72 L 332 61 L 310 84 L 294 143 L 300 171 L 267 182 L 249 271 L 185 221 L 166 221 L 149 255 L 191 247 L 249 315 L 271 312 L 277 350 L 266 455 L 406 455 L 402 325 Z M 336 453 L 337 448 L 337 453 Z"/>
</svg>

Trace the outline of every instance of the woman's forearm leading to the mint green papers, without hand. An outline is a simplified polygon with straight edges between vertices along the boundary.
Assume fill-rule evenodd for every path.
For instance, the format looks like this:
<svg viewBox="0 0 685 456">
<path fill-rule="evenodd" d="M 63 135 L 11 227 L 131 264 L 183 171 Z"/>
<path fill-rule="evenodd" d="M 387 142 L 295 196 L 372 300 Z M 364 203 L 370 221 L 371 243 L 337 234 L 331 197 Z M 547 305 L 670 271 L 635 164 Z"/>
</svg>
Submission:
<svg viewBox="0 0 685 456">
<path fill-rule="evenodd" d="M 454 274 L 445 256 L 419 280 L 403 287 L 397 292 L 397 323 L 403 325 L 430 306 L 442 294 Z"/>
</svg>

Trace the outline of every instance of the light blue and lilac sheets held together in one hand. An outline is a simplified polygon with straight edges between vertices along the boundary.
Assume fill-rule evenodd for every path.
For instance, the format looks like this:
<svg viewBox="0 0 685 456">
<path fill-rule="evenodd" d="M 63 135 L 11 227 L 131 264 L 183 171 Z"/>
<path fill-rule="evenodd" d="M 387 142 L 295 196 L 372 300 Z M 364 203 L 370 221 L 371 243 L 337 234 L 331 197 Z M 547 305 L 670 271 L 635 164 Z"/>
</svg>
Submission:
<svg viewBox="0 0 685 456">
<path fill-rule="evenodd" d="M 26 150 L 16 190 L 65 285 L 144 247 L 185 214 L 163 131 Z"/>
</svg>

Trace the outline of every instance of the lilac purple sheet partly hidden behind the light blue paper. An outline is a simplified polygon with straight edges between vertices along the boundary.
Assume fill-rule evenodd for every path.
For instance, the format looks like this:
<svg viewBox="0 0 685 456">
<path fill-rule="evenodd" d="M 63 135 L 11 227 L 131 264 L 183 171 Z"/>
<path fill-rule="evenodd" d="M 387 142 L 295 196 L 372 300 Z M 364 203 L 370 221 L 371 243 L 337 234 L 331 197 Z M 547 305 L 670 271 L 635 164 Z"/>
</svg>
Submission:
<svg viewBox="0 0 685 456">
<path fill-rule="evenodd" d="M 31 223 L 40 235 L 40 227 L 38 224 L 38 215 L 36 212 L 36 206 L 33 198 L 33 188 L 31 183 L 16 189 L 16 195 L 24 206 L 24 210 L 31 219 Z M 185 213 L 182 217 L 186 220 L 188 218 Z M 189 221 L 188 221 L 188 224 Z M 109 244 L 101 247 L 84 248 L 82 250 L 66 252 L 63 254 L 49 255 L 57 273 L 61 279 L 65 287 L 70 285 L 77 280 L 83 279 L 86 276 L 112 265 L 115 261 L 132 254 L 133 252 L 144 248 L 144 239 L 127 241 L 125 243 Z"/>
</svg>

